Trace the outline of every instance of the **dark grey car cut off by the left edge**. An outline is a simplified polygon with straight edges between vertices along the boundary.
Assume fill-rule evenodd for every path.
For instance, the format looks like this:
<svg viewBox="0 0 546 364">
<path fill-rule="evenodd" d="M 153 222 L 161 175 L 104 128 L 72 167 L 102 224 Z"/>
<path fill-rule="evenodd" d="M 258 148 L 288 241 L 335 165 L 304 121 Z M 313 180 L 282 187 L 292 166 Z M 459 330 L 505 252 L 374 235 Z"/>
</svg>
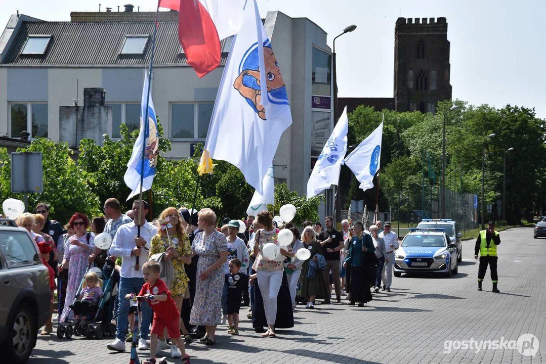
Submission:
<svg viewBox="0 0 546 364">
<path fill-rule="evenodd" d="M 0 349 L 8 363 L 24 363 L 49 317 L 48 268 L 26 229 L 0 224 Z"/>
</svg>

